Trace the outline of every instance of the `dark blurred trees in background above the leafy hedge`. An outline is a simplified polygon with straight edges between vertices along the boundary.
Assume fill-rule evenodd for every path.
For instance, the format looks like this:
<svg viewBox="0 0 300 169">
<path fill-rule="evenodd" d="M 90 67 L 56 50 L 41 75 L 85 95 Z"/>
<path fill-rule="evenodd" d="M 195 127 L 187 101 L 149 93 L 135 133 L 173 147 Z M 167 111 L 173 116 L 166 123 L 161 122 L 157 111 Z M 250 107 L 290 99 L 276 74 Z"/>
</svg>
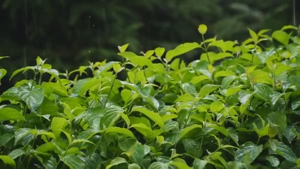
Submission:
<svg viewBox="0 0 300 169">
<path fill-rule="evenodd" d="M 208 36 L 242 40 L 248 37 L 247 28 L 274 30 L 292 24 L 292 4 L 292 0 L 1 0 L 0 55 L 11 58 L 0 65 L 12 72 L 33 65 L 39 55 L 55 69 L 72 70 L 88 61 L 118 60 L 117 45 L 124 43 L 140 52 L 197 42 L 200 23 L 209 26 Z M 185 58 L 197 59 L 199 54 Z"/>
</svg>

